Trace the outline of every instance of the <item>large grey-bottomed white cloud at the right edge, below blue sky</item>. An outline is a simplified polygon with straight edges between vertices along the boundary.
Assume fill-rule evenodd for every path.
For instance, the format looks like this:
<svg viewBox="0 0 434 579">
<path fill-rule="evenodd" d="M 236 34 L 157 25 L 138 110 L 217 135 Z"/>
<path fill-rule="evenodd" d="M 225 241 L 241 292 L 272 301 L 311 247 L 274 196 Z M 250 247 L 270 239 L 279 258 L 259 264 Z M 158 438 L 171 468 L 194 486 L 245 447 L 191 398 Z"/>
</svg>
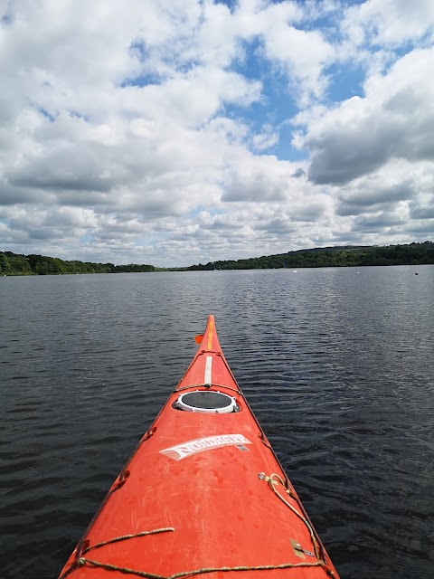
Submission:
<svg viewBox="0 0 434 579">
<path fill-rule="evenodd" d="M 392 158 L 434 159 L 433 59 L 432 48 L 406 54 L 365 81 L 362 99 L 344 100 L 308 123 L 300 142 L 312 154 L 310 179 L 345 184 Z"/>
</svg>

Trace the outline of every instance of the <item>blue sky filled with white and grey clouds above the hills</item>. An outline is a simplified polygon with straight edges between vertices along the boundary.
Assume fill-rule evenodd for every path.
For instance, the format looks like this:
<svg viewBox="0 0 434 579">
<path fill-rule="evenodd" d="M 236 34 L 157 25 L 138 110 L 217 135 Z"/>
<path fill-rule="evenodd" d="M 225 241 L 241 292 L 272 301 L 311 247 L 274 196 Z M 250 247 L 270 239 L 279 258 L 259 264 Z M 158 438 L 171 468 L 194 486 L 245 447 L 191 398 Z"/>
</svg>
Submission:
<svg viewBox="0 0 434 579">
<path fill-rule="evenodd" d="M 0 251 L 433 239 L 432 0 L 0 0 Z"/>
</svg>

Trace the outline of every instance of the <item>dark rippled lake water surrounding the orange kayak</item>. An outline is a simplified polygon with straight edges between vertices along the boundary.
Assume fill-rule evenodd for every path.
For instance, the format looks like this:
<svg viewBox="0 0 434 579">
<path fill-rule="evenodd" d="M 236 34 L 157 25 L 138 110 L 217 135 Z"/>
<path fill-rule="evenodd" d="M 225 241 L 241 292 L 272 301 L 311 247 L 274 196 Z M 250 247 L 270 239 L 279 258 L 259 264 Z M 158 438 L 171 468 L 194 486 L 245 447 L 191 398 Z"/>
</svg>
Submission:
<svg viewBox="0 0 434 579">
<path fill-rule="evenodd" d="M 209 313 L 342 579 L 434 577 L 427 265 L 0 278 L 0 578 L 57 576 Z"/>
</svg>

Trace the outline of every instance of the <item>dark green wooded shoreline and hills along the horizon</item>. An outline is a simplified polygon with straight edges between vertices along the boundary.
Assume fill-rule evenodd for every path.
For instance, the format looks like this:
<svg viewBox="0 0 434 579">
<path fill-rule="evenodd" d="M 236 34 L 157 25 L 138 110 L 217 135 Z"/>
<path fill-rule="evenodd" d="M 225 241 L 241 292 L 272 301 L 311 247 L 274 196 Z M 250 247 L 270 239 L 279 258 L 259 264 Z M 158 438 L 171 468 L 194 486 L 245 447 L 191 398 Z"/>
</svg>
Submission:
<svg viewBox="0 0 434 579">
<path fill-rule="evenodd" d="M 389 245 L 316 247 L 297 252 L 264 255 L 245 260 L 209 261 L 185 268 L 157 268 L 129 263 L 64 261 L 45 255 L 0 252 L 0 275 L 60 275 L 71 273 L 124 273 L 150 271 L 268 270 L 278 268 L 363 267 L 365 265 L 421 265 L 434 263 L 434 242 Z"/>
</svg>

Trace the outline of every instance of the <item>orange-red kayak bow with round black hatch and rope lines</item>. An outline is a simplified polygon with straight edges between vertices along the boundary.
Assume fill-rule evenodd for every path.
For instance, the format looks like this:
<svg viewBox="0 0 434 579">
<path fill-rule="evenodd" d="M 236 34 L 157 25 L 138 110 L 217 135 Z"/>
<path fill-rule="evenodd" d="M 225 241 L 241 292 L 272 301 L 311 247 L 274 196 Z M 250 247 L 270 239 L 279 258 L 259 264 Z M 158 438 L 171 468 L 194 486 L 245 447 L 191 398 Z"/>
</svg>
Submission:
<svg viewBox="0 0 434 579">
<path fill-rule="evenodd" d="M 199 349 L 60 578 L 338 577 L 210 316 Z"/>
</svg>

